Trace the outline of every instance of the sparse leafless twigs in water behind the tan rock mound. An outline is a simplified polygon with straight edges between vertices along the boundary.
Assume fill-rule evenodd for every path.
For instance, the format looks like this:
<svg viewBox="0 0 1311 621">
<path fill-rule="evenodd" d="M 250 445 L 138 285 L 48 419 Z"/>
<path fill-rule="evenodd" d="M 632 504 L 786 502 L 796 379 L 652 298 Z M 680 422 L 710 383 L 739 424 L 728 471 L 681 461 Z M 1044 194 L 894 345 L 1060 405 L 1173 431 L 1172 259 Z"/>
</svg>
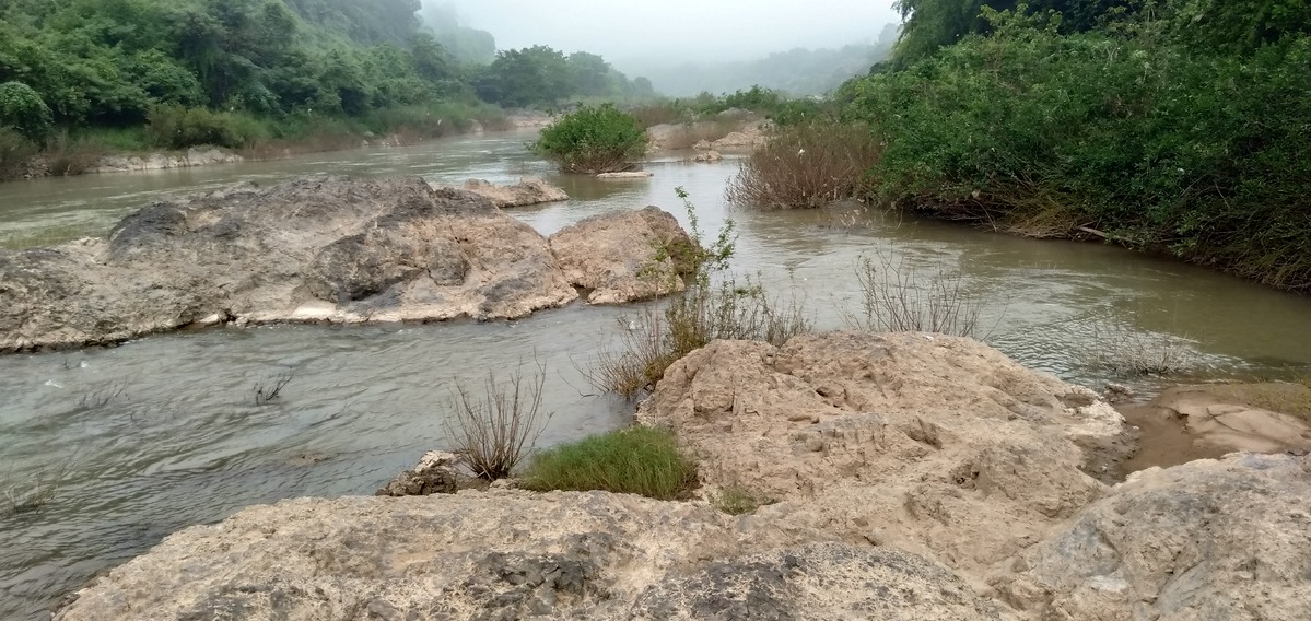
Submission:
<svg viewBox="0 0 1311 621">
<path fill-rule="evenodd" d="M 982 303 L 965 276 L 941 261 L 927 267 L 876 253 L 856 262 L 860 314 L 848 322 L 869 331 L 931 331 L 975 337 Z"/>
</svg>

